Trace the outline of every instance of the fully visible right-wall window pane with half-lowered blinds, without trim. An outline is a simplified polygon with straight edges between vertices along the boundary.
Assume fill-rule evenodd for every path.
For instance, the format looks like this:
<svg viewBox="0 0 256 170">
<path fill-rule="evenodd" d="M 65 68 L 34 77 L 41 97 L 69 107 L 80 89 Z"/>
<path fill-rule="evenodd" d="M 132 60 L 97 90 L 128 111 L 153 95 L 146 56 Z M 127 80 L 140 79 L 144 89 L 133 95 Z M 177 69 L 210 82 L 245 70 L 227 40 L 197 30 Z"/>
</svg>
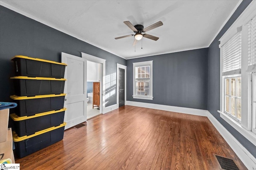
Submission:
<svg viewBox="0 0 256 170">
<path fill-rule="evenodd" d="M 241 122 L 242 33 L 236 33 L 221 48 L 224 113 Z"/>
</svg>

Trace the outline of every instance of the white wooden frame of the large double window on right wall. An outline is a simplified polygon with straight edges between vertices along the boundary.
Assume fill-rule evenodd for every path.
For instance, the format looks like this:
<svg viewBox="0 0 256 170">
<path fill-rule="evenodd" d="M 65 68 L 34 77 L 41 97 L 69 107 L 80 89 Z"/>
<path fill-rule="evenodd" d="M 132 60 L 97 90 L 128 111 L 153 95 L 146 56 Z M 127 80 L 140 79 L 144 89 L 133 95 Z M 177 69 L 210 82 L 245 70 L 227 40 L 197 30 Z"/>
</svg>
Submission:
<svg viewBox="0 0 256 170">
<path fill-rule="evenodd" d="M 252 1 L 237 20 L 220 38 L 220 117 L 240 132 L 256 146 L 256 134 L 252 131 L 252 73 L 248 68 L 248 22 L 256 16 L 256 1 Z M 242 60 L 241 60 L 241 122 L 238 122 L 224 113 L 224 77 L 222 76 L 222 45 L 224 45 L 238 31 L 242 31 Z"/>
</svg>

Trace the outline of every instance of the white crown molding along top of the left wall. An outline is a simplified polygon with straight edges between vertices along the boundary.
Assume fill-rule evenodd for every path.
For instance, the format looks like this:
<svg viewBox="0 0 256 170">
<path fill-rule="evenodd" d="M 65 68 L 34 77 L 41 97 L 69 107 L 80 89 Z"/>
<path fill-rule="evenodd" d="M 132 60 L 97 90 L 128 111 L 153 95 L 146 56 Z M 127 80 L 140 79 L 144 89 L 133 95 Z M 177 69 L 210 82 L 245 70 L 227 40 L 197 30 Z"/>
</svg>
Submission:
<svg viewBox="0 0 256 170">
<path fill-rule="evenodd" d="M 110 50 L 108 50 L 108 49 L 106 49 L 106 48 L 104 48 L 104 47 L 102 47 L 102 46 L 100 46 L 100 45 L 97 45 L 97 44 L 92 43 L 92 42 L 90 42 L 90 41 L 88 41 L 88 40 L 84 40 L 84 39 L 82 39 L 82 38 L 79 38 L 78 36 L 75 36 L 74 34 L 71 34 L 70 32 L 67 32 L 67 31 L 65 31 L 65 30 L 62 30 L 61 28 L 58 28 L 58 27 L 56 27 L 56 26 L 53 26 L 52 24 L 50 24 L 50 23 L 48 23 L 48 22 L 46 22 L 46 21 L 44 21 L 44 20 L 41 20 L 41 19 L 39 19 L 39 18 L 36 18 L 35 16 L 32 16 L 32 15 L 30 15 L 30 14 L 28 14 L 28 13 L 22 11 L 22 10 L 19 10 L 19 9 L 17 9 L 17 8 L 14 8 L 13 6 L 10 6 L 10 5 L 8 5 L 8 4 L 2 2 L 2 1 L 0 1 L 0 5 L 1 5 L 1 6 L 4 6 L 4 7 L 6 7 L 6 8 L 8 8 L 8 9 L 14 11 L 14 12 L 17 12 L 17 13 L 19 13 L 19 14 L 22 14 L 22 15 L 28 17 L 28 18 L 31 18 L 32 20 L 38 21 L 38 22 L 40 22 L 40 23 L 42 23 L 42 24 L 44 24 L 44 25 L 46 25 L 46 26 L 49 26 L 49 27 L 51 27 L 51 28 L 54 28 L 55 30 L 58 30 L 58 31 L 60 31 L 60 32 L 63 32 L 63 33 L 65 33 L 65 34 L 68 34 L 69 36 L 72 36 L 72 37 L 74 37 L 74 38 L 77 38 L 78 40 L 81 40 L 81 41 L 83 41 L 83 42 L 89 43 L 90 45 L 93 45 L 93 46 L 95 46 L 95 47 L 98 47 L 98 48 L 100 48 L 100 49 L 103 49 L 104 51 L 108 51 L 109 53 L 112 53 L 112 54 L 114 54 L 114 55 L 116 55 L 116 56 L 118 56 L 118 57 L 121 57 L 121 56 L 117 55 L 116 53 L 114 53 L 114 52 L 112 52 L 112 51 L 110 51 Z M 121 57 L 121 58 L 126 59 L 126 58 L 124 58 L 124 57 Z"/>
</svg>

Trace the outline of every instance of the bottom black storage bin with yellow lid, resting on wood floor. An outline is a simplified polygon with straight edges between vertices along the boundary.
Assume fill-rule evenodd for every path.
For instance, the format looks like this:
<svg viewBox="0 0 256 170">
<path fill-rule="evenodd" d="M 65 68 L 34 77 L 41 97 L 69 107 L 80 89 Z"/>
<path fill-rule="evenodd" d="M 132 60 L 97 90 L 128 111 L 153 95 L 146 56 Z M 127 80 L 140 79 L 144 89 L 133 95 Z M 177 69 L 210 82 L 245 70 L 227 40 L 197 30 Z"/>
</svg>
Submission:
<svg viewBox="0 0 256 170">
<path fill-rule="evenodd" d="M 18 157 L 22 158 L 62 140 L 65 125 L 66 123 L 62 123 L 57 127 L 48 128 L 22 137 L 18 137 L 15 131 L 13 131 L 12 137 Z"/>
</svg>

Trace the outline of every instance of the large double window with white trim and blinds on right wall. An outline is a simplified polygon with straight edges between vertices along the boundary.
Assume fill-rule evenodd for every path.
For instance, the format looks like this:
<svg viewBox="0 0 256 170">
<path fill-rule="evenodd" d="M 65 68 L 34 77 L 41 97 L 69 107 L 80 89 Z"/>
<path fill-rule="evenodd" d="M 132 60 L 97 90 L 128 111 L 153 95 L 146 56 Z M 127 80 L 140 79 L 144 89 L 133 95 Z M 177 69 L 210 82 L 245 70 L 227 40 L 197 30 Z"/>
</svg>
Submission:
<svg viewBox="0 0 256 170">
<path fill-rule="evenodd" d="M 256 1 L 220 38 L 220 117 L 256 145 Z"/>
</svg>

